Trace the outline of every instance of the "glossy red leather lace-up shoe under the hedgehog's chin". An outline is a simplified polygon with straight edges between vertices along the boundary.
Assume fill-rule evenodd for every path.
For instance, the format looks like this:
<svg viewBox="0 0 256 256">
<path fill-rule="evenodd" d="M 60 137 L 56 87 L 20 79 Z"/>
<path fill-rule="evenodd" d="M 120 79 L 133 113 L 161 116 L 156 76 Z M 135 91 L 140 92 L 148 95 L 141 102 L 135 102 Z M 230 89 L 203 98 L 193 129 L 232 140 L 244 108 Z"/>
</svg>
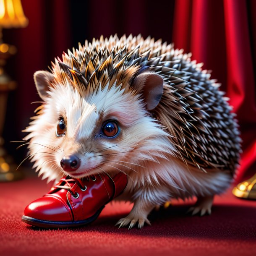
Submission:
<svg viewBox="0 0 256 256">
<path fill-rule="evenodd" d="M 24 210 L 22 221 L 46 228 L 78 227 L 93 222 L 105 204 L 120 195 L 127 176 L 119 172 L 113 178 L 106 174 L 90 178 L 63 178 L 46 195 Z"/>
</svg>

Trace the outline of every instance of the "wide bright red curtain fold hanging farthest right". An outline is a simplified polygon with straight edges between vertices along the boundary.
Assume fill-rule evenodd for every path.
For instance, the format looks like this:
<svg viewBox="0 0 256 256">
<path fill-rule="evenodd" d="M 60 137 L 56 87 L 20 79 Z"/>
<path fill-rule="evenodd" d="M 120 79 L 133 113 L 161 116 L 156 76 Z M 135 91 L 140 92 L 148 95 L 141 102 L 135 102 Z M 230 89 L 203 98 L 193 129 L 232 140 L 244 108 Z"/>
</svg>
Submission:
<svg viewBox="0 0 256 256">
<path fill-rule="evenodd" d="M 246 1 L 224 1 L 227 47 L 227 96 L 240 123 L 244 152 L 239 180 L 256 159 L 256 99 Z M 255 28 L 256 29 L 256 28 Z"/>
</svg>

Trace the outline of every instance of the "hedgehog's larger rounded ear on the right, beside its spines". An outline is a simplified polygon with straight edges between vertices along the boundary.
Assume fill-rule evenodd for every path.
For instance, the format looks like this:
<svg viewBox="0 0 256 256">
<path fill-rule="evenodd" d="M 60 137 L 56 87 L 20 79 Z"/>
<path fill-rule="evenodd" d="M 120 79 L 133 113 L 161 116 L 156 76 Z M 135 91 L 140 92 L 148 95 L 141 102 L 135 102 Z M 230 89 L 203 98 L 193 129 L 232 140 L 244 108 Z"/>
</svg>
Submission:
<svg viewBox="0 0 256 256">
<path fill-rule="evenodd" d="M 143 95 L 146 108 L 153 110 L 162 98 L 164 79 L 157 73 L 144 72 L 134 78 L 133 87 Z"/>
</svg>

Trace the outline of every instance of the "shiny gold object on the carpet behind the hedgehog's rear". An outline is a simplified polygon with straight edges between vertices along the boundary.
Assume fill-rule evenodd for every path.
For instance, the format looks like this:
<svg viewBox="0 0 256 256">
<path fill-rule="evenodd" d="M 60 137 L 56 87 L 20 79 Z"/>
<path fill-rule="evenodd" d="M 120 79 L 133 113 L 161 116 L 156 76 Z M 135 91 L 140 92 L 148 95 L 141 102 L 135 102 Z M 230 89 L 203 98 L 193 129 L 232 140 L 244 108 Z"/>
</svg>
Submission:
<svg viewBox="0 0 256 256">
<path fill-rule="evenodd" d="M 232 193 L 240 198 L 256 200 L 256 174 L 248 180 L 239 183 Z"/>
</svg>

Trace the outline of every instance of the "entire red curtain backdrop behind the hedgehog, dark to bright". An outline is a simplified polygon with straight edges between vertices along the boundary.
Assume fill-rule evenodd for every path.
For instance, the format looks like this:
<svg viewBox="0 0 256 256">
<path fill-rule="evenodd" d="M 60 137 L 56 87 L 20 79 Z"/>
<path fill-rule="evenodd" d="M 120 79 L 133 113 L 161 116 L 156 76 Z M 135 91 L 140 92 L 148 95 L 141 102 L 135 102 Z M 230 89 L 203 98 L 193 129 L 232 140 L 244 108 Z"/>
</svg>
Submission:
<svg viewBox="0 0 256 256">
<path fill-rule="evenodd" d="M 4 138 L 17 162 L 25 151 L 16 152 L 8 141 L 24 137 L 39 100 L 33 73 L 46 70 L 50 61 L 78 42 L 118 33 L 162 38 L 192 52 L 204 62 L 212 78 L 222 83 L 238 114 L 243 156 L 237 180 L 255 173 L 256 159 L 256 1 L 246 0 L 22 0 L 29 19 L 25 29 L 4 30 L 5 42 L 18 48 L 8 61 L 8 73 L 18 81 L 10 93 Z M 29 163 L 27 163 L 29 164 Z M 250 168 L 251 167 L 251 168 Z"/>
</svg>

